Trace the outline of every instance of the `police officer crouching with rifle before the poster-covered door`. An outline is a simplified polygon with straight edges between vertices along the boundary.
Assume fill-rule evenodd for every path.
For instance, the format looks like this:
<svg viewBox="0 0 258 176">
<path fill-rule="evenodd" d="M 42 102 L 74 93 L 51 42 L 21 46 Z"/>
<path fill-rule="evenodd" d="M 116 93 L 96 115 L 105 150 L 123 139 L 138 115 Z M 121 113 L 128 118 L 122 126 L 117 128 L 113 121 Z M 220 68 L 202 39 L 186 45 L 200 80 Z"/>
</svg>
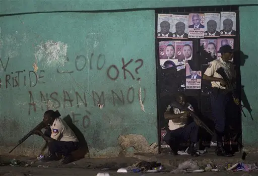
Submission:
<svg viewBox="0 0 258 176">
<path fill-rule="evenodd" d="M 189 111 L 182 111 L 178 107 L 173 107 L 173 102 L 168 105 L 164 118 L 169 120 L 167 134 L 164 137 L 164 141 L 170 146 L 174 155 L 177 155 L 179 144 L 187 142 L 190 138 L 189 153 L 192 156 L 199 156 L 195 149 L 195 144 L 198 142 L 199 126 L 196 122 L 187 124 L 187 118 L 190 115 L 190 111 L 193 111 L 192 106 L 185 102 L 185 95 L 178 93 L 175 97 L 177 103 L 183 107 L 187 107 Z"/>
</svg>

